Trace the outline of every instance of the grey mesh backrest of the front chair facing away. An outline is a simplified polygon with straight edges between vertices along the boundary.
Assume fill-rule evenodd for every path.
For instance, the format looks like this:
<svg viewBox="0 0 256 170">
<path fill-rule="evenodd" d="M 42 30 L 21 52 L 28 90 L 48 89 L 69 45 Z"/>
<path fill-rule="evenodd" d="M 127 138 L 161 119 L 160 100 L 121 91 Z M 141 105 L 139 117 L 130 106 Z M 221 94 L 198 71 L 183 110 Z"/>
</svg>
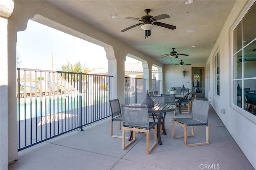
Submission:
<svg viewBox="0 0 256 170">
<path fill-rule="evenodd" d="M 121 105 L 123 125 L 125 127 L 142 127 L 149 129 L 148 106 Z"/>
</svg>

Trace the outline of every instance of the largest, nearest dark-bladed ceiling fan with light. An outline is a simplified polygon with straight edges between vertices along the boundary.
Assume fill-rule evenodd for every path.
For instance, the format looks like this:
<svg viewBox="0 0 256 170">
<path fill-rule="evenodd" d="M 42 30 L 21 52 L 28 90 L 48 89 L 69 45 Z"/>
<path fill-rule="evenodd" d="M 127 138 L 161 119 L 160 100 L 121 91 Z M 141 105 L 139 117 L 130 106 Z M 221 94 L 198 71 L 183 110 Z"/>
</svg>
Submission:
<svg viewBox="0 0 256 170">
<path fill-rule="evenodd" d="M 126 19 L 132 19 L 132 20 L 139 20 L 142 23 L 137 23 L 136 25 L 132 25 L 132 26 L 126 28 L 126 29 L 121 30 L 121 32 L 127 31 L 131 28 L 134 28 L 134 27 L 137 27 L 137 26 L 141 25 L 141 28 L 145 30 L 145 38 L 146 38 L 146 37 L 151 35 L 150 30 L 153 28 L 154 25 L 157 25 L 157 26 L 160 26 L 160 27 L 165 27 L 165 28 L 168 28 L 168 29 L 175 29 L 176 28 L 176 26 L 174 26 L 174 25 L 169 25 L 167 23 L 162 23 L 162 22 L 157 21 L 157 20 L 162 20 L 162 19 L 165 19 L 165 18 L 170 18 L 169 15 L 162 14 L 162 15 L 153 17 L 153 16 L 148 15 L 149 12 L 150 12 L 150 9 L 146 9 L 144 11 L 146 12 L 146 15 L 142 16 L 141 18 L 132 18 L 132 17 L 126 18 Z"/>
</svg>

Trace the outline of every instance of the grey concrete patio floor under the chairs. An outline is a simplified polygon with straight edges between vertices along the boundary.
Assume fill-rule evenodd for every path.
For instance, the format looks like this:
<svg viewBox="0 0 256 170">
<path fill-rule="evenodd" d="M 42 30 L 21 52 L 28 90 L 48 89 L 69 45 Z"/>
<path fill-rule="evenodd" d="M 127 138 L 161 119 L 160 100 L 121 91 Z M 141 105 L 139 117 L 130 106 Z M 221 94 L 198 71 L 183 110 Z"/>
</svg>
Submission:
<svg viewBox="0 0 256 170">
<path fill-rule="evenodd" d="M 110 136 L 108 117 L 83 127 L 84 131 L 75 130 L 18 152 L 18 160 L 9 165 L 9 170 L 254 170 L 211 106 L 210 145 L 184 147 L 184 139 L 172 139 L 173 117 L 173 112 L 167 113 L 163 145 L 157 145 L 149 155 L 144 133 L 136 133 L 136 142 L 122 150 L 122 139 Z M 114 122 L 114 134 L 122 135 L 118 125 Z M 195 137 L 188 138 L 188 143 L 204 142 L 205 131 L 203 126 L 195 127 Z M 184 129 L 176 125 L 175 132 L 183 135 Z"/>
</svg>

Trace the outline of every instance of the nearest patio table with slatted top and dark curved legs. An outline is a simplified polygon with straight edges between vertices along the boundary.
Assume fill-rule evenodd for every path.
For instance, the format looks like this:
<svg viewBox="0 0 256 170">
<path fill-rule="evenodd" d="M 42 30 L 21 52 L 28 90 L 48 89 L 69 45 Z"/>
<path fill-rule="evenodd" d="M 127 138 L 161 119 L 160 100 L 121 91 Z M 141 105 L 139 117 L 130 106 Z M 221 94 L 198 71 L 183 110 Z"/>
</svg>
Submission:
<svg viewBox="0 0 256 170">
<path fill-rule="evenodd" d="M 130 106 L 136 106 L 140 104 L 128 104 Z M 161 139 L 161 134 L 160 134 L 160 127 L 162 124 L 162 130 L 164 135 L 166 135 L 166 131 L 164 128 L 164 118 L 167 112 L 174 111 L 176 109 L 175 105 L 172 104 L 159 104 L 155 103 L 153 107 L 148 107 L 148 113 L 153 113 L 155 116 L 155 113 L 159 113 L 158 115 L 158 121 L 157 121 L 157 140 L 158 140 L 158 145 L 162 145 L 162 139 Z M 130 138 L 132 137 L 132 133 L 130 133 Z"/>
</svg>

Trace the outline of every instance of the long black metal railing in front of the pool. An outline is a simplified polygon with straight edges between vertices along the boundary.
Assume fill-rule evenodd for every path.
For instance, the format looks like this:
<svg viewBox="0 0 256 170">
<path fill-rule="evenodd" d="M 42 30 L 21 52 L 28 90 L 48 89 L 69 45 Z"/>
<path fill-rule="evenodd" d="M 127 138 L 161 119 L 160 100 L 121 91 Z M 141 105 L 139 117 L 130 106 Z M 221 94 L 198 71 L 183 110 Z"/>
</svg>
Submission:
<svg viewBox="0 0 256 170">
<path fill-rule="evenodd" d="M 18 150 L 111 115 L 112 76 L 17 70 Z"/>
</svg>

